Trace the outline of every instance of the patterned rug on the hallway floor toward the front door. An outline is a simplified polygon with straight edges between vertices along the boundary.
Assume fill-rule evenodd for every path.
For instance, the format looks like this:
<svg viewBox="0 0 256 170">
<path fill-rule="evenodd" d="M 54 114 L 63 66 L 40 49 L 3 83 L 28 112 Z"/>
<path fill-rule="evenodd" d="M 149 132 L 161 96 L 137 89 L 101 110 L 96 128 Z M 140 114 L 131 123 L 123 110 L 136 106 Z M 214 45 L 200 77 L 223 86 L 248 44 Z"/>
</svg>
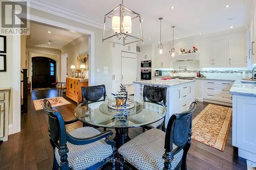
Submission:
<svg viewBox="0 0 256 170">
<path fill-rule="evenodd" d="M 42 103 L 45 99 L 40 100 L 33 100 L 33 104 L 35 107 L 35 110 L 41 110 L 42 109 Z M 62 106 L 62 105 L 68 105 L 70 102 L 68 102 L 63 97 L 56 97 L 56 98 L 47 98 L 47 100 L 50 102 L 52 107 Z"/>
</svg>

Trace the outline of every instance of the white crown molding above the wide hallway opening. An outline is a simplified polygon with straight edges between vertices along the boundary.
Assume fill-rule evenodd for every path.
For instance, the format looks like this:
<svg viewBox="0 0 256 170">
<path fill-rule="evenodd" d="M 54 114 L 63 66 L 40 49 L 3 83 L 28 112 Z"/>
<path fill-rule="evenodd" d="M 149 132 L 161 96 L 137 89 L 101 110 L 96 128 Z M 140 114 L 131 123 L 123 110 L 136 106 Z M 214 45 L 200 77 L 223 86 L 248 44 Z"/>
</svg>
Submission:
<svg viewBox="0 0 256 170">
<path fill-rule="evenodd" d="M 50 14 L 54 14 L 63 18 L 67 18 L 70 20 L 74 20 L 80 23 L 84 23 L 85 25 L 89 25 L 92 27 L 96 27 L 99 29 L 103 28 L 103 22 L 99 21 L 97 19 L 93 19 L 91 17 L 78 14 L 76 12 L 73 12 L 71 10 L 67 10 L 65 8 L 61 8 L 56 5 L 52 5 L 50 3 L 40 1 L 40 0 L 30 0 L 29 3 L 30 8 L 34 8 L 40 11 L 44 11 Z"/>
</svg>

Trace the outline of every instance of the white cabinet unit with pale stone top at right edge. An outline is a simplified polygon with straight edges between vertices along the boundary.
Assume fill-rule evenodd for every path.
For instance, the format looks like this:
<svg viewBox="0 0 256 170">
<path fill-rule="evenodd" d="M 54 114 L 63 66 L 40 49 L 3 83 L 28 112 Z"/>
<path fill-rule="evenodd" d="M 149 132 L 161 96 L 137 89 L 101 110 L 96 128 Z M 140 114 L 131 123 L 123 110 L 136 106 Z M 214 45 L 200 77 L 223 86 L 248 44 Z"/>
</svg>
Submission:
<svg viewBox="0 0 256 170">
<path fill-rule="evenodd" d="M 238 155 L 256 162 L 256 82 L 237 80 L 232 94 L 232 145 Z"/>
</svg>

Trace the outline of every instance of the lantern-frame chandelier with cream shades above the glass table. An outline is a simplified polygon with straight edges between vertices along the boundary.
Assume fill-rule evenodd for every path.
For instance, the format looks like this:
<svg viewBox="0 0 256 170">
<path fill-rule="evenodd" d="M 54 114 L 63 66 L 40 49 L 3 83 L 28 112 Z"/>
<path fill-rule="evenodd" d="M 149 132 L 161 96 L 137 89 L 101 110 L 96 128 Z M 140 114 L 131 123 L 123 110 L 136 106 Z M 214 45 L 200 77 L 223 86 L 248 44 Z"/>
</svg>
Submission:
<svg viewBox="0 0 256 170">
<path fill-rule="evenodd" d="M 132 30 L 135 30 L 132 28 L 132 21 L 135 22 L 136 20 L 139 23 L 138 31 L 140 32 L 140 34 L 138 33 L 137 35 L 140 35 L 140 37 L 132 35 Z M 112 30 L 110 30 L 111 32 L 114 32 L 114 35 L 105 37 L 106 34 L 109 34 L 109 32 L 106 32 L 106 27 L 110 26 L 110 24 L 108 25 L 108 21 L 112 21 Z M 119 6 L 104 16 L 102 41 L 117 43 L 123 46 L 126 44 L 143 41 L 140 14 L 123 6 L 123 0 L 121 0 L 121 4 Z"/>
</svg>

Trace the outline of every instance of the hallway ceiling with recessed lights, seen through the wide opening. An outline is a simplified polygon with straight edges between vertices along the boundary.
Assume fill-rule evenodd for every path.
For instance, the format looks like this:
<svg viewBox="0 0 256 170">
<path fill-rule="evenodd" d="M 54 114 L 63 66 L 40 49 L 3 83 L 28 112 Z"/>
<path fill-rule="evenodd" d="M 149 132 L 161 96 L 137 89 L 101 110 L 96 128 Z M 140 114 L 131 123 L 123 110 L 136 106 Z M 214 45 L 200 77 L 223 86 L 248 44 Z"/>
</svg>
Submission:
<svg viewBox="0 0 256 170">
<path fill-rule="evenodd" d="M 51 33 L 48 33 L 48 31 Z M 80 36 L 81 33 L 61 30 L 30 22 L 30 36 L 27 39 L 26 45 L 30 47 L 38 46 L 60 49 Z M 48 44 L 49 41 L 52 41 L 51 44 Z"/>
</svg>

